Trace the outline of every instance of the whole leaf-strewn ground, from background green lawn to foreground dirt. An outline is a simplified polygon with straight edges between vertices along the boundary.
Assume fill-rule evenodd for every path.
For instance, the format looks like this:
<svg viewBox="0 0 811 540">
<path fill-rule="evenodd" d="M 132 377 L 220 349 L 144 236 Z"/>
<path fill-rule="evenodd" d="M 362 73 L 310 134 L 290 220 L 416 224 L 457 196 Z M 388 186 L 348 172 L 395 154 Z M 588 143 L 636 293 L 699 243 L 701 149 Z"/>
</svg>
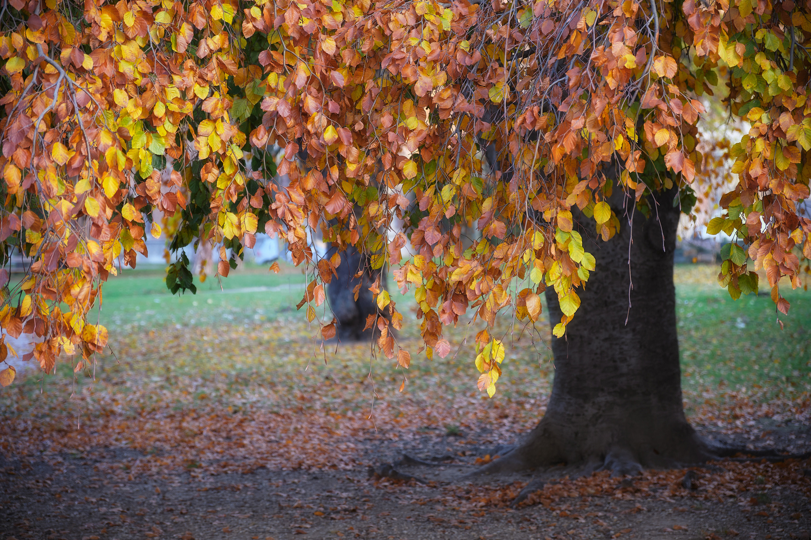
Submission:
<svg viewBox="0 0 811 540">
<path fill-rule="evenodd" d="M 775 332 L 768 296 L 733 302 L 713 271 L 676 274 L 689 419 L 752 449 L 809 451 L 811 295 L 787 296 Z M 317 326 L 290 308 L 303 276 L 236 276 L 181 299 L 154 275 L 122 277 L 100 315 L 114 354 L 75 376 L 71 359 L 56 376 L 20 369 L 0 390 L 0 539 L 809 538 L 808 460 L 467 478 L 543 415 L 546 321 L 502 327 L 488 399 L 475 324 L 431 362 L 406 321 L 404 370 L 368 344 L 314 346 Z M 397 472 L 370 476 L 385 464 Z"/>
</svg>

